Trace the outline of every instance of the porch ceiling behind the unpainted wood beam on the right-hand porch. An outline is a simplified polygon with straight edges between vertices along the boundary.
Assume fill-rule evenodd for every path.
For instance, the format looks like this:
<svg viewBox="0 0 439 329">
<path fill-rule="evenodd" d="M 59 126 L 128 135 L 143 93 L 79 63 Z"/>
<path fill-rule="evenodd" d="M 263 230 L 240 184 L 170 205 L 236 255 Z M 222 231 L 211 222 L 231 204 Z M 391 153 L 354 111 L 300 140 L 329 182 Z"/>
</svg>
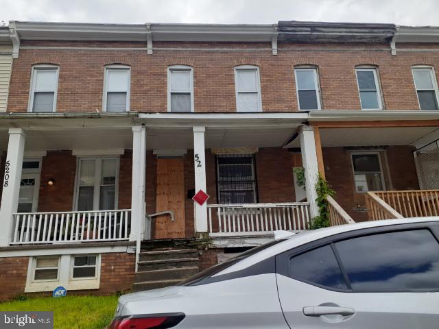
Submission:
<svg viewBox="0 0 439 329">
<path fill-rule="evenodd" d="M 414 145 L 438 127 L 320 128 L 323 147 Z"/>
</svg>

